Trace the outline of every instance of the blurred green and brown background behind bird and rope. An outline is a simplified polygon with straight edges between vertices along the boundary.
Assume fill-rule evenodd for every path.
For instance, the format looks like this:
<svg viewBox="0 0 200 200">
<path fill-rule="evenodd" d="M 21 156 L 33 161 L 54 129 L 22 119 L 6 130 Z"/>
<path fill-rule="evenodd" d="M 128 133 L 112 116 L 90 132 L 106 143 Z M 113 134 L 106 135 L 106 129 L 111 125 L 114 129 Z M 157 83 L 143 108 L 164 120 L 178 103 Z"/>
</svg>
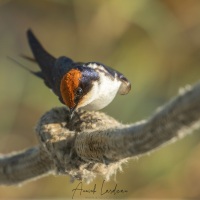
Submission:
<svg viewBox="0 0 200 200">
<path fill-rule="evenodd" d="M 7 58 L 36 70 L 20 57 L 31 55 L 31 28 L 54 56 L 99 61 L 122 72 L 132 91 L 103 111 L 123 123 L 136 122 L 193 84 L 200 74 L 198 0 L 0 0 L 0 152 L 37 145 L 34 126 L 61 106 L 43 82 Z M 200 131 L 130 160 L 116 176 L 121 195 L 101 198 L 200 199 Z M 89 186 L 100 185 L 98 177 Z M 0 187 L 0 199 L 71 198 L 78 181 L 47 176 L 21 187 Z M 106 187 L 114 187 L 114 178 Z M 85 195 L 92 198 L 92 195 Z M 81 196 L 84 198 L 84 196 Z M 99 197 L 98 197 L 99 198 Z"/>
</svg>

